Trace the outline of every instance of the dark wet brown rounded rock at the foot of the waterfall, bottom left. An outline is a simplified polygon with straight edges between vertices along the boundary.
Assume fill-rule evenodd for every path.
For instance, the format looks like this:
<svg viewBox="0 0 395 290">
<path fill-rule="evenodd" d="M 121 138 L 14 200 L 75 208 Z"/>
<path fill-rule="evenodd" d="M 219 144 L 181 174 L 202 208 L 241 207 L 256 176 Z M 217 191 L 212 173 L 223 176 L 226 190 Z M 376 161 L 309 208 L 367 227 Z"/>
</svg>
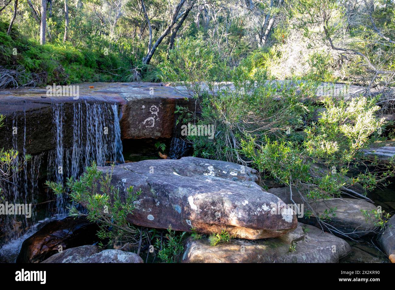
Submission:
<svg viewBox="0 0 395 290">
<path fill-rule="evenodd" d="M 98 241 L 98 225 L 85 218 L 66 217 L 43 226 L 26 239 L 17 257 L 17 263 L 39 263 L 63 250 Z"/>
</svg>

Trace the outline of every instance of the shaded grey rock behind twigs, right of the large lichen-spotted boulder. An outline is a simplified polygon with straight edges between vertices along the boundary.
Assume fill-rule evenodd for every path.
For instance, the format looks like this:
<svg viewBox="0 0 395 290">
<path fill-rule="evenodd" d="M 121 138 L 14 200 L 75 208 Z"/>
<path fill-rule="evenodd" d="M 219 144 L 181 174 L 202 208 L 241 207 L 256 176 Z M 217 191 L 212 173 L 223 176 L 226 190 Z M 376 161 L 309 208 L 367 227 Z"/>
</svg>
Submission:
<svg viewBox="0 0 395 290">
<path fill-rule="evenodd" d="M 268 192 L 278 196 L 286 204 L 292 204 L 290 200 L 289 187 L 271 188 L 268 190 Z M 304 213 L 309 210 L 309 208 L 307 205 L 305 205 L 305 202 L 302 200 L 301 196 L 299 194 L 295 194 L 295 192 L 296 191 L 293 191 L 293 201 L 296 204 L 303 204 L 303 218 L 301 215 L 298 215 L 298 218 L 300 218 L 299 220 L 303 221 L 303 223 L 309 223 L 318 226 L 316 219 L 308 219 L 304 217 Z M 371 213 L 372 210 L 377 209 L 376 206 L 365 200 L 352 198 L 331 198 L 327 200 L 317 200 L 314 202 L 311 201 L 310 205 L 318 215 L 324 215 L 325 210 L 327 210 L 331 220 L 326 220 L 325 222 L 335 226 L 343 233 L 352 237 L 361 237 L 369 234 L 369 231 L 376 228 L 374 224 L 378 222 Z M 330 213 L 331 208 L 336 208 L 334 216 L 332 213 Z M 371 217 L 364 215 L 363 211 L 370 213 Z"/>
</svg>

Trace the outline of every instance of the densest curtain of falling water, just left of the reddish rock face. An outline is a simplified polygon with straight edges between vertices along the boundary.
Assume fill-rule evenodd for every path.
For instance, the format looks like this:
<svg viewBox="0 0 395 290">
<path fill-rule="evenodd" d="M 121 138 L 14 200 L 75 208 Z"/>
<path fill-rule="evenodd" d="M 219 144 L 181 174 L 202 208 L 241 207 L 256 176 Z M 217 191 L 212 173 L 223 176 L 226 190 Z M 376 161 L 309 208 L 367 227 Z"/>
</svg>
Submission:
<svg viewBox="0 0 395 290">
<path fill-rule="evenodd" d="M 56 151 L 49 159 L 47 170 L 55 172 L 56 182 L 64 182 L 67 177 L 78 178 L 92 161 L 98 166 L 124 163 L 118 105 L 87 101 L 73 104 L 71 148 L 64 147 L 63 126 L 66 124 L 62 104 L 53 107 L 53 116 Z M 64 215 L 68 205 L 67 196 L 56 196 L 56 214 Z"/>
</svg>

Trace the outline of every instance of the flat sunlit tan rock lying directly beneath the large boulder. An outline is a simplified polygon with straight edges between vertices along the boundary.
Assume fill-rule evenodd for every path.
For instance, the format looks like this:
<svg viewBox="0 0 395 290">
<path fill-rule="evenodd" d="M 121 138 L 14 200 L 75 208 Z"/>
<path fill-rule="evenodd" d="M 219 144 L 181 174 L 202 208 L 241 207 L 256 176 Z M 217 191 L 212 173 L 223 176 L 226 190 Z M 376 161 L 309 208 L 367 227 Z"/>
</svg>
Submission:
<svg viewBox="0 0 395 290">
<path fill-rule="evenodd" d="M 296 232 L 281 238 L 247 241 L 233 239 L 229 243 L 210 246 L 207 239 L 188 238 L 181 257 L 183 263 L 337 263 L 350 252 L 343 239 L 320 229 L 299 223 Z M 288 236 L 288 238 L 285 238 Z M 291 244 L 296 251 L 290 250 Z"/>
</svg>

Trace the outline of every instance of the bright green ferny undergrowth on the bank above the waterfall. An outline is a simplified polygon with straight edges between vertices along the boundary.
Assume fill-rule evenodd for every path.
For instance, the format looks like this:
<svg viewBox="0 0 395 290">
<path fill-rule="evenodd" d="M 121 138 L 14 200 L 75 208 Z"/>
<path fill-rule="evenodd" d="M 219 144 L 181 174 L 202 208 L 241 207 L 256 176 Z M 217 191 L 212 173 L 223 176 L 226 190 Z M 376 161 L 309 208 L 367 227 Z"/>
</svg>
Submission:
<svg viewBox="0 0 395 290">
<path fill-rule="evenodd" d="M 36 85 L 78 82 L 131 81 L 134 59 L 106 45 L 73 47 L 70 43 L 48 43 L 21 36 L 17 30 L 7 35 L 7 24 L 0 22 L 0 66 L 24 71 Z M 150 71 L 150 79 L 155 79 Z M 24 85 L 19 82 L 19 85 Z"/>
</svg>

